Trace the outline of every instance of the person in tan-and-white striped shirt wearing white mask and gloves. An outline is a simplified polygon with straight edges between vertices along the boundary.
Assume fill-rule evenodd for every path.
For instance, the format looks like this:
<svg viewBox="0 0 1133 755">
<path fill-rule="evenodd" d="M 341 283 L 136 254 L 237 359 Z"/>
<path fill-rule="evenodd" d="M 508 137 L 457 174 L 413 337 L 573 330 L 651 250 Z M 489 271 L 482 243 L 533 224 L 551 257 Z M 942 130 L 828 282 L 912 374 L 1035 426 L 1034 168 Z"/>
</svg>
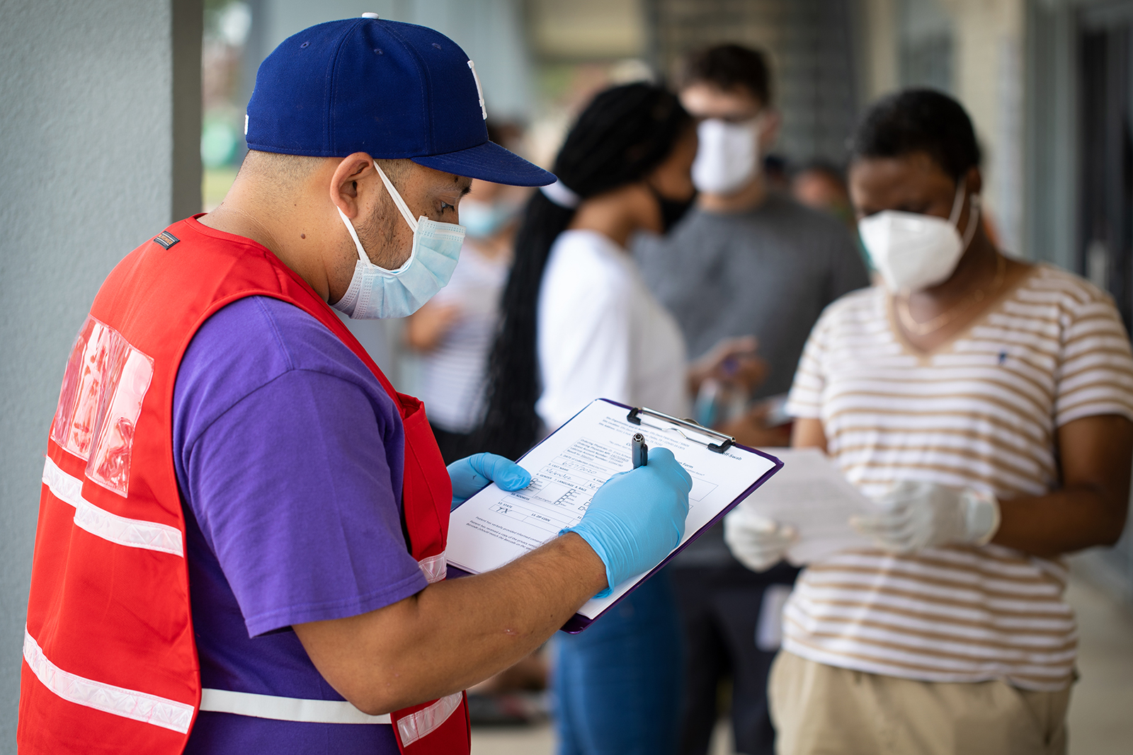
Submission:
<svg viewBox="0 0 1133 755">
<path fill-rule="evenodd" d="M 830 304 L 791 391 L 793 445 L 880 504 L 877 549 L 810 565 L 772 672 L 778 752 L 1064 753 L 1076 630 L 1059 557 L 1121 535 L 1133 359 L 1113 301 L 1000 254 L 979 148 L 929 91 L 876 104 L 850 170 L 885 286 Z M 791 533 L 727 522 L 753 568 Z"/>
</svg>

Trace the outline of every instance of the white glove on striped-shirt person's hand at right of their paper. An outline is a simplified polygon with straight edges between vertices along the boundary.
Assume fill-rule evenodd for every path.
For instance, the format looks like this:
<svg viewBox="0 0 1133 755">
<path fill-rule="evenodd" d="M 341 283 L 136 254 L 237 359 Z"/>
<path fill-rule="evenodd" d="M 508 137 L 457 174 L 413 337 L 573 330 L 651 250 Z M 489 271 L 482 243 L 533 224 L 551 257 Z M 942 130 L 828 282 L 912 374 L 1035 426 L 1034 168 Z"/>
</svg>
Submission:
<svg viewBox="0 0 1133 755">
<path fill-rule="evenodd" d="M 954 490 L 935 482 L 898 482 L 877 499 L 880 514 L 850 523 L 879 548 L 909 552 L 947 543 L 986 544 L 999 529 L 999 503 L 971 488 Z"/>
</svg>

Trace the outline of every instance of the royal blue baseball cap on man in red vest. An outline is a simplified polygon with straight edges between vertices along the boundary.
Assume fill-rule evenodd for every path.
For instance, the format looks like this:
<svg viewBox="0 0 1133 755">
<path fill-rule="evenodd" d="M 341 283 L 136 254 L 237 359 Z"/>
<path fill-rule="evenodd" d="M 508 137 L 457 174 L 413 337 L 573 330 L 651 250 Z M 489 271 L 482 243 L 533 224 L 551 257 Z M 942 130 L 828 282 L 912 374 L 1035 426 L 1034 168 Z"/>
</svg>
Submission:
<svg viewBox="0 0 1133 755">
<path fill-rule="evenodd" d="M 286 155 L 409 158 L 513 186 L 555 180 L 488 140 L 476 68 L 431 28 L 361 18 L 318 24 L 284 40 L 256 74 L 245 137 Z"/>
</svg>

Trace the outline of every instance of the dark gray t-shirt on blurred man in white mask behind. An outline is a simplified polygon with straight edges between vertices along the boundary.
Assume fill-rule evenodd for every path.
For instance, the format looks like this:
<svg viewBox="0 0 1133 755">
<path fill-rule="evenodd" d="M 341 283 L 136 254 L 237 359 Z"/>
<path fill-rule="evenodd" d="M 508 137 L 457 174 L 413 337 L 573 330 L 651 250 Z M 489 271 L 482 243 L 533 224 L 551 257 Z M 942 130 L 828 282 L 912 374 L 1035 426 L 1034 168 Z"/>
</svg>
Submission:
<svg viewBox="0 0 1133 755">
<path fill-rule="evenodd" d="M 727 336 L 759 340 L 770 371 L 757 397 L 786 393 L 823 309 L 869 285 L 841 222 L 774 194 L 746 213 L 693 209 L 667 237 L 639 235 L 633 256 L 646 284 L 680 324 L 690 358 Z M 706 532 L 675 560 L 730 563 L 723 527 Z"/>
</svg>

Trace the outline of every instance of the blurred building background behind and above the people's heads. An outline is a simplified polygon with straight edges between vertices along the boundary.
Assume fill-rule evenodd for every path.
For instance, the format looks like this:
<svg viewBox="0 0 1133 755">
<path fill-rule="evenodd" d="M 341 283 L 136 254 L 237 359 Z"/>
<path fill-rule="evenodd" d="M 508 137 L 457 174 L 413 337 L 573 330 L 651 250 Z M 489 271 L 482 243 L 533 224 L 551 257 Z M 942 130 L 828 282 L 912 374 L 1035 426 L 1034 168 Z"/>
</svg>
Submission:
<svg viewBox="0 0 1133 755">
<path fill-rule="evenodd" d="M 259 61 L 306 26 L 366 10 L 455 40 L 476 61 L 492 118 L 525 127 L 521 149 L 544 165 L 597 89 L 671 77 L 683 53 L 717 42 L 769 53 L 783 113 L 774 154 L 786 172 L 843 164 L 858 114 L 880 95 L 947 92 L 976 122 L 1003 248 L 1085 275 L 1133 325 L 1133 2 L 206 0 L 205 209 L 223 199 L 244 156 L 244 106 Z M 395 327 L 368 343 L 411 388 L 412 358 Z M 1088 561 L 1133 600 L 1133 537 Z"/>
</svg>

